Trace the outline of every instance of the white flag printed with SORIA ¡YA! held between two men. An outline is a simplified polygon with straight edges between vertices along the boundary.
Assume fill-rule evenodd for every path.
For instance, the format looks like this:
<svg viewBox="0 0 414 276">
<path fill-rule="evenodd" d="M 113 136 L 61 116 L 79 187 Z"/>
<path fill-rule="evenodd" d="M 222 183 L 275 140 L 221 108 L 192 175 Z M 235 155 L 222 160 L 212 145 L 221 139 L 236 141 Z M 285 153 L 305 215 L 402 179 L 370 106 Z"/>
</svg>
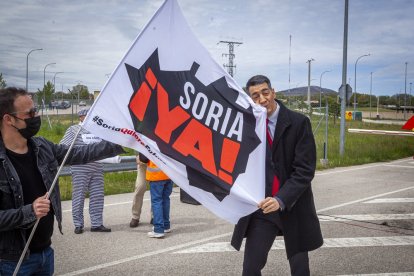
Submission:
<svg viewBox="0 0 414 276">
<path fill-rule="evenodd" d="M 265 195 L 264 108 L 255 105 L 187 25 L 176 0 L 148 22 L 83 127 L 133 148 L 231 222 Z"/>
</svg>

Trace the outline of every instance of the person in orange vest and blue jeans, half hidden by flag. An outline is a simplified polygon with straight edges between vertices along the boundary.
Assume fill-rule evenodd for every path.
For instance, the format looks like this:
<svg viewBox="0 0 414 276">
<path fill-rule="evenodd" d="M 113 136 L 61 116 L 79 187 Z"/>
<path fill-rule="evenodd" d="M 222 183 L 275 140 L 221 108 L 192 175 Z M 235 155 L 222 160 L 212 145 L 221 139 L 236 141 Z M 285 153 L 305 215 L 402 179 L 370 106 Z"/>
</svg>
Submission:
<svg viewBox="0 0 414 276">
<path fill-rule="evenodd" d="M 151 208 L 153 213 L 153 228 L 148 232 L 150 238 L 163 238 L 171 232 L 170 195 L 173 183 L 171 179 L 151 160 L 139 154 L 141 162 L 147 163 L 146 179 L 150 185 Z"/>
</svg>

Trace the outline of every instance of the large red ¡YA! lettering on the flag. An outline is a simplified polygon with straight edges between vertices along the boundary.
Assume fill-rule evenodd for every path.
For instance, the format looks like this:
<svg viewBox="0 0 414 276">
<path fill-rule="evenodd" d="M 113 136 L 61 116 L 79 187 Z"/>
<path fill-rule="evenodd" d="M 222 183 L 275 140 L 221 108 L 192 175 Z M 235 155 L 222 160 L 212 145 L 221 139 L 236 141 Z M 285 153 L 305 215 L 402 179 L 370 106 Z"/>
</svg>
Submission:
<svg viewBox="0 0 414 276">
<path fill-rule="evenodd" d="M 167 144 L 171 143 L 172 148 L 182 156 L 192 156 L 201 163 L 201 166 L 206 171 L 212 175 L 218 176 L 227 184 L 232 185 L 234 179 L 231 176 L 231 172 L 233 172 L 239 154 L 240 143 L 228 138 L 223 139 L 220 154 L 220 166 L 222 169 L 217 169 L 214 156 L 213 133 L 211 129 L 207 126 L 203 126 L 203 124 L 196 120 L 196 118 L 191 118 L 190 114 L 180 106 L 175 106 L 170 109 L 169 94 L 162 84 L 158 82 L 157 77 L 151 68 L 148 68 L 145 76 L 146 82 L 143 82 L 138 88 L 137 93 L 133 96 L 130 103 L 130 108 L 134 115 L 140 121 L 145 119 L 150 98 L 153 94 L 152 91 L 154 90 L 158 110 L 158 120 L 155 123 L 154 129 L 155 135 L 163 142 Z M 186 84 L 188 83 L 189 82 L 186 82 Z M 205 108 L 206 106 L 204 106 L 204 109 Z M 197 107 L 195 109 L 197 109 Z M 197 113 L 197 110 L 195 110 L 195 112 L 196 116 L 198 116 L 199 114 Z M 227 113 L 230 114 L 231 112 Z M 187 124 L 182 129 L 182 126 L 185 123 Z M 171 141 L 173 132 L 178 129 L 180 129 L 180 134 L 174 139 L 175 141 Z"/>
</svg>

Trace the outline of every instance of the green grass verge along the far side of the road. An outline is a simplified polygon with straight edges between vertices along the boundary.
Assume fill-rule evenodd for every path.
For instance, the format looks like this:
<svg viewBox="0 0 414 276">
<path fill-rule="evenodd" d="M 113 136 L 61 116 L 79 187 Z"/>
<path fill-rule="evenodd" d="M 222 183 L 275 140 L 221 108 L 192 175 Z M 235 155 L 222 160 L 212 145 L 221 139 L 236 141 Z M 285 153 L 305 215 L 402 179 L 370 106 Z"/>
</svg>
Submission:
<svg viewBox="0 0 414 276">
<path fill-rule="evenodd" d="M 50 116 L 49 127 L 47 118 L 42 118 L 43 125 L 40 136 L 59 143 L 66 129 L 71 125 L 70 115 Z M 320 117 L 312 118 L 312 127 L 315 130 Z M 401 130 L 401 126 L 364 123 L 361 121 L 346 122 L 348 128 L 363 129 L 381 129 L 381 130 Z M 402 136 L 384 136 L 384 135 L 368 135 L 357 133 L 345 134 L 345 153 L 343 156 L 339 154 L 339 135 L 340 123 L 337 119 L 335 122 L 332 118 L 328 122 L 328 166 L 323 167 L 319 162 L 324 154 L 325 140 L 325 120 L 315 131 L 315 141 L 317 148 L 317 169 L 326 169 L 334 167 L 360 165 L 373 162 L 390 161 L 409 157 L 414 155 L 414 137 Z M 134 155 L 134 150 L 125 148 L 127 151 L 124 155 Z M 105 195 L 131 193 L 135 189 L 136 171 L 105 173 Z M 72 198 L 72 177 L 59 178 L 60 192 L 62 200 L 70 200 Z"/>
</svg>

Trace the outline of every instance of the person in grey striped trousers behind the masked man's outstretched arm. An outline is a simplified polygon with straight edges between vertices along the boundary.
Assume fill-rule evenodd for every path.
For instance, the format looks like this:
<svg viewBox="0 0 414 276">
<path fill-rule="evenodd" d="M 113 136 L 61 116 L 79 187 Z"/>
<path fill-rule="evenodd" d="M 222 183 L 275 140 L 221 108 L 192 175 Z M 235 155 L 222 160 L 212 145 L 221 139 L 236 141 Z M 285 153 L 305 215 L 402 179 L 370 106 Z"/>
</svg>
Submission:
<svg viewBox="0 0 414 276">
<path fill-rule="evenodd" d="M 75 145 L 88 145 L 100 142 L 101 139 L 82 128 L 81 123 L 88 114 L 89 109 L 78 112 L 80 123 L 70 126 L 63 136 L 60 144 L 70 145 L 76 138 Z M 78 136 L 75 137 L 79 128 Z M 110 228 L 103 225 L 104 207 L 104 173 L 103 164 L 90 162 L 83 165 L 72 165 L 72 218 L 75 225 L 75 234 L 84 231 L 83 208 L 86 193 L 89 192 L 89 216 L 91 220 L 91 232 L 111 232 Z"/>
</svg>

